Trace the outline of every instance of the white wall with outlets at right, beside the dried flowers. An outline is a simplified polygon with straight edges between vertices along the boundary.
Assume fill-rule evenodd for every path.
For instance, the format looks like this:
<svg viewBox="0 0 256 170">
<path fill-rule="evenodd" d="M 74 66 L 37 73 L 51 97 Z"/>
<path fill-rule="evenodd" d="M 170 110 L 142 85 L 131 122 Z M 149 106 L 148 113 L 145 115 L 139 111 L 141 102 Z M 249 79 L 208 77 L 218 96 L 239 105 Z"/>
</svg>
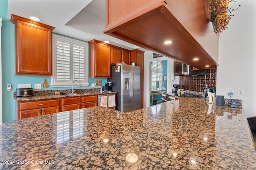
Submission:
<svg viewBox="0 0 256 170">
<path fill-rule="evenodd" d="M 256 0 L 236 0 L 230 6 L 235 15 L 219 39 L 219 66 L 217 67 L 217 95 L 242 100 L 246 117 L 256 116 Z M 237 97 L 237 89 L 244 89 L 244 97 Z"/>
</svg>

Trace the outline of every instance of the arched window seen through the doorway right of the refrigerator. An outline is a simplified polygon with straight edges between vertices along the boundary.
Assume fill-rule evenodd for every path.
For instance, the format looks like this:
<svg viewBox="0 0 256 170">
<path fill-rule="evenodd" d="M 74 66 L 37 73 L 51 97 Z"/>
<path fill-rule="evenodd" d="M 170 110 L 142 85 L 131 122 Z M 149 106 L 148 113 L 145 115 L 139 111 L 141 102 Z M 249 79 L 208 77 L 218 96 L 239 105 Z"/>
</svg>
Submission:
<svg viewBox="0 0 256 170">
<path fill-rule="evenodd" d="M 161 61 L 151 63 L 151 90 L 162 90 L 163 66 Z"/>
</svg>

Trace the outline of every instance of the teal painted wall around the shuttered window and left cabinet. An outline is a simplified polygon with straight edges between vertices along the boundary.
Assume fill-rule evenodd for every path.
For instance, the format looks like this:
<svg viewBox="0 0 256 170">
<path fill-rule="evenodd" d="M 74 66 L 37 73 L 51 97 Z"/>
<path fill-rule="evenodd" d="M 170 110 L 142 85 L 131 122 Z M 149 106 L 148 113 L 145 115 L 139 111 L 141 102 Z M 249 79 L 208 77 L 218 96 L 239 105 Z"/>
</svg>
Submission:
<svg viewBox="0 0 256 170">
<path fill-rule="evenodd" d="M 44 79 L 47 80 L 49 87 L 40 90 L 62 90 L 71 89 L 68 87 L 52 88 L 50 87 L 50 76 L 22 76 L 15 74 L 15 37 L 14 37 L 14 24 L 7 19 L 8 17 L 8 0 L 0 0 L 0 18 L 2 18 L 2 105 L 3 105 L 3 123 L 15 120 L 15 101 L 13 93 L 18 88 L 18 84 L 31 84 L 34 88 L 34 84 L 43 84 Z M 54 25 L 52 25 L 54 26 Z M 53 31 L 54 32 L 54 31 Z M 88 48 L 89 49 L 89 48 Z M 89 50 L 88 50 L 89 56 Z M 89 61 L 88 61 L 89 63 Z M 89 66 L 88 66 L 89 69 Z M 97 80 L 102 80 L 102 84 L 107 82 L 106 78 L 88 78 L 88 87 L 91 88 L 91 84 Z M 6 85 L 12 84 L 12 90 L 7 91 Z M 76 87 L 78 88 L 78 87 Z M 99 87 L 97 87 L 99 88 Z"/>
</svg>

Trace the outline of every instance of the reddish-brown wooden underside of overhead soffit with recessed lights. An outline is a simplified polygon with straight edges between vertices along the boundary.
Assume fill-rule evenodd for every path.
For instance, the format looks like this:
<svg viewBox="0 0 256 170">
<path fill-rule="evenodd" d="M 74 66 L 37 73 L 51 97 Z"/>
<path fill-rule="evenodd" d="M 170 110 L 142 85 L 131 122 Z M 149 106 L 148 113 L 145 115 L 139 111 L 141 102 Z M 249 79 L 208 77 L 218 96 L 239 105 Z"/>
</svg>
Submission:
<svg viewBox="0 0 256 170">
<path fill-rule="evenodd" d="M 199 69 L 216 68 L 216 62 L 170 12 L 164 2 L 130 18 L 106 25 L 104 33 L 155 51 Z M 169 45 L 164 41 L 172 40 Z M 196 62 L 193 59 L 198 58 Z M 209 65 L 209 67 L 206 67 Z"/>
</svg>

